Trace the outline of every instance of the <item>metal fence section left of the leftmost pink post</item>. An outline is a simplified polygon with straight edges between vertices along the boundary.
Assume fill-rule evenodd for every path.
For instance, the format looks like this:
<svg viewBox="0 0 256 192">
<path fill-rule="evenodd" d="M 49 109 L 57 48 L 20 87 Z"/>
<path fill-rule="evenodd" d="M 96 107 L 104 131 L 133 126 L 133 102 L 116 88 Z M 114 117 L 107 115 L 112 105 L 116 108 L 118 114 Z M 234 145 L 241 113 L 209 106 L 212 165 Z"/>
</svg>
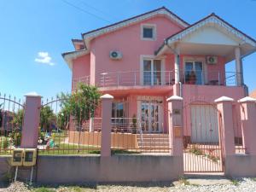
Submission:
<svg viewBox="0 0 256 192">
<path fill-rule="evenodd" d="M 24 103 L 15 96 L 0 94 L 0 154 L 20 147 Z"/>
</svg>

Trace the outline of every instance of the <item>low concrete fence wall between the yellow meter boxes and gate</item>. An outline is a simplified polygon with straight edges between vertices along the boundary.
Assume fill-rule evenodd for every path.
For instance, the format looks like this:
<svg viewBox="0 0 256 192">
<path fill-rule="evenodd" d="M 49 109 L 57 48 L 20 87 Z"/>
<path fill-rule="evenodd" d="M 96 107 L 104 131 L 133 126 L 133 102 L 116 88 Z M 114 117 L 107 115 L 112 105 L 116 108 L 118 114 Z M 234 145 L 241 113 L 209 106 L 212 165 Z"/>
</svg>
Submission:
<svg viewBox="0 0 256 192">
<path fill-rule="evenodd" d="M 183 175 L 183 160 L 171 155 L 117 154 L 40 156 L 38 183 L 170 181 Z"/>
</svg>

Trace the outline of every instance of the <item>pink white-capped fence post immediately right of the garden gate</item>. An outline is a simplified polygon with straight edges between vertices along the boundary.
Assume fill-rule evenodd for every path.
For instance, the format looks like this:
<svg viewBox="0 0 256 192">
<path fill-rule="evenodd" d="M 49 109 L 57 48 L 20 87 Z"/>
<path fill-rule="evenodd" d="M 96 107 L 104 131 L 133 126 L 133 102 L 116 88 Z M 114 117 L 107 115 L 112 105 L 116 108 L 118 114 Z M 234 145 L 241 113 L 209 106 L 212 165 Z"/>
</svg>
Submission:
<svg viewBox="0 0 256 192">
<path fill-rule="evenodd" d="M 233 111 L 232 102 L 234 99 L 221 96 L 214 102 L 217 103 L 218 108 L 218 133 L 220 143 L 223 148 L 224 157 L 235 154 L 235 137 L 233 127 Z"/>
</svg>

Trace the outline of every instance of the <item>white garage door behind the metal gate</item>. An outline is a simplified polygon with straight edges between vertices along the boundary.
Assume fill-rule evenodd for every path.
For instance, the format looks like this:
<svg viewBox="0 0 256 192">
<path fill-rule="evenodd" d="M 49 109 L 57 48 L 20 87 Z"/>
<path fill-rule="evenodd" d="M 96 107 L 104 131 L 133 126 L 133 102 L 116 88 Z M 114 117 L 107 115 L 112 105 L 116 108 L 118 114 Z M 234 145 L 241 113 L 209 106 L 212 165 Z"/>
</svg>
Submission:
<svg viewBox="0 0 256 192">
<path fill-rule="evenodd" d="M 218 143 L 218 112 L 212 105 L 191 105 L 191 142 Z"/>
</svg>

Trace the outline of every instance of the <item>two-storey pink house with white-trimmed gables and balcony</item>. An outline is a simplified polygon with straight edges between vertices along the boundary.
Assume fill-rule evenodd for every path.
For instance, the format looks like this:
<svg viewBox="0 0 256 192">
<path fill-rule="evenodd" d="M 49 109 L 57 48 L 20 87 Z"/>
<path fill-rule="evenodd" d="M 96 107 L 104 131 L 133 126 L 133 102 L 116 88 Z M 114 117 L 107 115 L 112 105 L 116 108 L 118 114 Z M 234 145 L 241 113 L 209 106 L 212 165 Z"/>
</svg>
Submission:
<svg viewBox="0 0 256 192">
<path fill-rule="evenodd" d="M 195 143 L 218 140 L 218 130 L 211 138 L 196 131 L 217 126 L 215 99 L 247 96 L 241 59 L 256 50 L 253 38 L 218 15 L 190 25 L 165 7 L 85 32 L 72 42 L 75 50 L 62 54 L 73 73 L 72 90 L 78 82 L 98 86 L 114 97 L 112 118 L 136 117 L 145 133 L 165 133 L 166 99 L 182 96 L 184 136 Z M 236 61 L 236 72 L 225 70 L 230 61 Z"/>
</svg>

